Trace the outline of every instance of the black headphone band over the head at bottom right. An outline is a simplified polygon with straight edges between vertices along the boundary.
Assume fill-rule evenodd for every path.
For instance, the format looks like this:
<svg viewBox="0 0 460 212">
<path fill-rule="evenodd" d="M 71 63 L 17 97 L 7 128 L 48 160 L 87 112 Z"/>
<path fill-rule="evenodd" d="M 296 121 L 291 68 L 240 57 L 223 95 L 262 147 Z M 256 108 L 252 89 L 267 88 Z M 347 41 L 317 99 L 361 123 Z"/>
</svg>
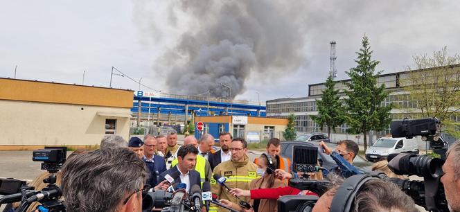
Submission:
<svg viewBox="0 0 460 212">
<path fill-rule="evenodd" d="M 362 185 L 371 179 L 384 179 L 387 175 L 380 172 L 371 172 L 369 175 L 353 175 L 344 180 L 337 189 L 330 204 L 330 212 L 348 212 L 353 209 L 355 195 L 361 190 Z"/>
</svg>

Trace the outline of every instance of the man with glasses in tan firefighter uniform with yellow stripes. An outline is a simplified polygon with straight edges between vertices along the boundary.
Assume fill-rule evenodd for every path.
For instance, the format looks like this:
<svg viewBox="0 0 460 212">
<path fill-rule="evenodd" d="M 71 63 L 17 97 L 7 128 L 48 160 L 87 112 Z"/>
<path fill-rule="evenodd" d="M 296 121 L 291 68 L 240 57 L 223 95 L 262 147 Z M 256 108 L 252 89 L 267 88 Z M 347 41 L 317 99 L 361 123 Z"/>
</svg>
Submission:
<svg viewBox="0 0 460 212">
<path fill-rule="evenodd" d="M 249 161 L 247 156 L 247 142 L 245 139 L 235 138 L 231 141 L 229 150 L 231 151 L 231 160 L 224 161 L 218 166 L 215 166 L 213 175 L 218 174 L 225 177 L 225 184 L 230 188 L 249 189 L 249 184 L 253 179 L 258 178 L 256 164 Z M 227 188 L 220 185 L 215 179 L 211 179 L 211 192 L 217 195 L 218 199 L 225 199 L 231 202 L 239 202 L 239 200 L 231 195 Z M 241 200 L 249 202 L 249 197 L 240 197 Z M 209 211 L 215 211 L 215 207 L 210 207 Z M 219 208 L 218 211 L 226 211 L 227 209 Z"/>
</svg>

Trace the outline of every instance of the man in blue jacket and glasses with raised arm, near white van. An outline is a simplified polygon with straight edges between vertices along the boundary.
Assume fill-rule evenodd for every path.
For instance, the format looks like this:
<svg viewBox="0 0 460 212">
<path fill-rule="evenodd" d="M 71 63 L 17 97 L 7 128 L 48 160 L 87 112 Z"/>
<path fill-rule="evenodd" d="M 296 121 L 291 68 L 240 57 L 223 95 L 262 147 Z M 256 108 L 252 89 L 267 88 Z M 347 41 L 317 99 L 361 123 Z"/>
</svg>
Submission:
<svg viewBox="0 0 460 212">
<path fill-rule="evenodd" d="M 324 143 L 324 141 L 321 141 L 319 146 L 324 149 L 324 153 L 329 154 L 330 157 L 332 157 L 337 163 L 337 167 L 332 168 L 329 170 L 329 172 L 339 173 L 339 175 L 344 178 L 350 177 L 352 175 L 362 174 L 360 170 L 357 170 L 357 168 L 353 166 L 353 159 L 355 159 L 357 152 L 360 150 L 355 141 L 340 141 L 337 144 L 337 147 L 335 147 L 335 151 L 331 150 L 328 145 Z M 323 174 L 327 176 L 328 172 L 325 171 Z"/>
</svg>

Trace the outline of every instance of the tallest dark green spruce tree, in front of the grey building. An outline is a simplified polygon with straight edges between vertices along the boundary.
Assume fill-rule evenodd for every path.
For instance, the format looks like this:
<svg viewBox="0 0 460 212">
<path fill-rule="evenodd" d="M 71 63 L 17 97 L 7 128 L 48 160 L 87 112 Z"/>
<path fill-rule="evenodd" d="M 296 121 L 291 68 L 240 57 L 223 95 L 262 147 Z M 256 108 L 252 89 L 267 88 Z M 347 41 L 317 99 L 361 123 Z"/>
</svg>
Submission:
<svg viewBox="0 0 460 212">
<path fill-rule="evenodd" d="M 385 91 L 384 84 L 377 86 L 377 78 L 382 71 L 375 72 L 375 67 L 380 62 L 371 59 L 372 53 L 369 39 L 364 36 L 362 48 L 357 52 L 355 60 L 357 66 L 346 71 L 351 82 L 346 83 L 348 89 L 344 90 L 348 96 L 345 98 L 345 118 L 350 126 L 348 132 L 364 134 L 364 150 L 367 148 L 367 133 L 370 130 L 385 130 L 391 122 L 389 113 L 392 105 L 381 105 L 388 92 Z"/>
</svg>

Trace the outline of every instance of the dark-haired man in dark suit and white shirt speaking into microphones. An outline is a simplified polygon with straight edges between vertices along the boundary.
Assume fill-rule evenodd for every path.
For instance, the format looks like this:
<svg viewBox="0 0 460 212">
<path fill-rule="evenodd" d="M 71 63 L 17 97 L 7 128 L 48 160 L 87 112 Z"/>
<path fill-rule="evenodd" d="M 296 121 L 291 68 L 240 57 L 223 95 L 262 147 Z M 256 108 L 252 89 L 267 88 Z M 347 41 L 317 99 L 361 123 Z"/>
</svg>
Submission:
<svg viewBox="0 0 460 212">
<path fill-rule="evenodd" d="M 174 179 L 175 182 L 186 184 L 186 191 L 190 192 L 190 188 L 197 184 L 201 188 L 200 173 L 195 170 L 197 163 L 198 150 L 193 145 L 184 145 L 177 150 L 177 165 L 160 174 L 159 181 L 172 176 L 172 173 L 179 172 L 179 177 Z M 168 175 L 168 177 L 166 177 Z"/>
</svg>

